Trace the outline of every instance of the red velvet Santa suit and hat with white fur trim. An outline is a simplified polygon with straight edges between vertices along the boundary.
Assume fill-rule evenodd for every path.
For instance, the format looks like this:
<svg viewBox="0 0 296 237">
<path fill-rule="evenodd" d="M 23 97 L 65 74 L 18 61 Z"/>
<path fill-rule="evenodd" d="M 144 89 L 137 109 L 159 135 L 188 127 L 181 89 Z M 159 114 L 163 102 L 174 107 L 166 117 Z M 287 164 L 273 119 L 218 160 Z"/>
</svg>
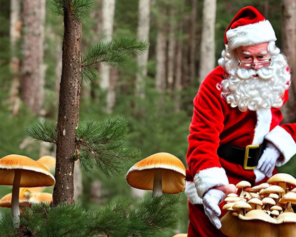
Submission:
<svg viewBox="0 0 296 237">
<path fill-rule="evenodd" d="M 256 9 L 247 7 L 242 10 L 234 17 L 226 32 L 232 30 L 231 26 L 237 23 L 238 19 L 242 19 L 242 12 L 254 12 Z M 258 15 L 258 11 L 255 13 Z M 250 18 L 252 17 L 248 17 L 248 19 Z M 264 17 L 259 21 L 265 24 L 260 27 L 266 28 Z M 246 25 L 253 23 L 247 21 Z M 242 25 L 242 23 L 240 24 Z M 244 35 L 244 37 L 247 36 Z M 266 33 L 260 37 L 255 37 L 255 41 L 248 43 L 248 45 L 275 41 L 274 33 L 269 33 L 269 35 Z M 250 38 L 252 39 L 252 37 Z M 226 37 L 225 42 L 228 50 L 237 48 L 239 44 L 239 46 L 242 45 L 240 41 L 237 43 L 236 39 L 232 39 L 231 36 L 228 39 Z M 186 155 L 188 169 L 186 170 L 185 193 L 189 200 L 190 221 L 188 237 L 225 236 L 210 223 L 204 213 L 201 204 L 202 197 L 207 190 L 229 183 L 237 184 L 241 180 L 249 181 L 252 186 L 256 185 L 254 170 L 243 169 L 241 165 L 218 157 L 219 145 L 229 144 L 245 148 L 250 144 L 261 144 L 265 139 L 272 142 L 282 154 L 276 163 L 277 166 L 285 164 L 296 153 L 296 125 L 279 125 L 283 119 L 280 108 L 247 110 L 245 112 L 240 111 L 238 107 L 232 108 L 221 97 L 222 89 L 219 85 L 221 85 L 225 74 L 226 72 L 221 66 L 210 72 L 203 80 L 193 100 L 194 110 L 189 127 L 189 147 Z M 282 99 L 284 102 L 287 101 L 288 90 L 285 91 Z M 243 159 L 243 157 L 238 158 Z M 266 182 L 266 180 L 267 177 L 261 182 Z"/>
</svg>

